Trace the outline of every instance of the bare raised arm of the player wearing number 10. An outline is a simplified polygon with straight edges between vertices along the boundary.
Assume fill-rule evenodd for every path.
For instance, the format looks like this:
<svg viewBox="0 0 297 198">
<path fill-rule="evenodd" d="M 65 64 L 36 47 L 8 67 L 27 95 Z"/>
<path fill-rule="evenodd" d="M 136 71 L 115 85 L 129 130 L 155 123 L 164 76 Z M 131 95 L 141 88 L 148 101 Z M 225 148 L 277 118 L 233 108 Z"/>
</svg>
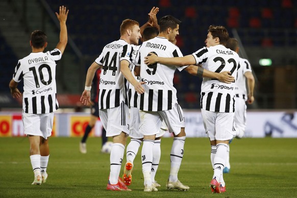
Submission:
<svg viewBox="0 0 297 198">
<path fill-rule="evenodd" d="M 60 21 L 60 41 L 57 44 L 56 48 L 60 49 L 60 51 L 64 52 L 66 45 L 67 45 L 67 26 L 66 26 L 66 20 L 69 10 L 66 11 L 66 7 L 60 6 L 59 8 L 59 14 L 56 12 L 56 16 L 58 20 Z"/>
</svg>

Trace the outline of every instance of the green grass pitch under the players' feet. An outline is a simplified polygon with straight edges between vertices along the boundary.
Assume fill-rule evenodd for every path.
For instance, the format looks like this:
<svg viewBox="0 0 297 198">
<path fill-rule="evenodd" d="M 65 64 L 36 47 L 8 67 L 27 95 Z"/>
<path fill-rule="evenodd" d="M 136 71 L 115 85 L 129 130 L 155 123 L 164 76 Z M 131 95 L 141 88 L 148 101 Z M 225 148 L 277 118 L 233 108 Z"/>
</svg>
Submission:
<svg viewBox="0 0 297 198">
<path fill-rule="evenodd" d="M 227 192 L 222 194 L 212 194 L 209 188 L 213 171 L 207 138 L 186 139 L 178 177 L 189 191 L 166 189 L 172 138 L 162 139 L 158 192 L 143 192 L 141 148 L 134 161 L 132 191 L 115 192 L 106 190 L 109 155 L 100 153 L 101 139 L 88 139 L 87 154 L 79 152 L 79 142 L 75 137 L 50 138 L 48 178 L 35 186 L 28 138 L 0 138 L 0 197 L 297 197 L 297 138 L 234 139 L 231 171 L 224 174 Z"/>
</svg>

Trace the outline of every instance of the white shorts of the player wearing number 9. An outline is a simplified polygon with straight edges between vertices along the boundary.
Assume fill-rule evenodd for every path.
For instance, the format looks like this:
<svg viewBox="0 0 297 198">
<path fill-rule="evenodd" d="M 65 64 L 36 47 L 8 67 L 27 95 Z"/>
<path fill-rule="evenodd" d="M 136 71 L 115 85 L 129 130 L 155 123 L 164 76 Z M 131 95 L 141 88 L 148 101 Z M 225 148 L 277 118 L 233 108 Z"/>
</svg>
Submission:
<svg viewBox="0 0 297 198">
<path fill-rule="evenodd" d="M 185 127 L 183 110 L 178 103 L 170 110 L 164 111 L 142 111 L 140 110 L 140 131 L 143 135 L 155 135 L 160 131 L 164 120 L 170 133 L 176 135 Z M 162 130 L 161 130 L 162 131 Z M 163 130 L 163 133 L 165 130 Z M 157 137 L 157 136 L 156 136 Z"/>
</svg>

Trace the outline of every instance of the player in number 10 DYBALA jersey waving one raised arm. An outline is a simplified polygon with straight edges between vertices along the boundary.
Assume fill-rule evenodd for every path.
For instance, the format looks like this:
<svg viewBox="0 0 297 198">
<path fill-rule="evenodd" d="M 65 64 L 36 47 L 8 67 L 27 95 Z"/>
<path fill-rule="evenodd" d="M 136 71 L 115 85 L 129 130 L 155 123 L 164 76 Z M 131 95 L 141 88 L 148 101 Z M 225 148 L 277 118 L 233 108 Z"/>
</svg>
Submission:
<svg viewBox="0 0 297 198">
<path fill-rule="evenodd" d="M 30 142 L 30 159 L 34 171 L 32 185 L 45 183 L 47 179 L 47 163 L 50 157 L 48 137 L 52 134 L 54 111 L 58 109 L 56 98 L 56 65 L 61 59 L 67 45 L 66 20 L 69 10 L 62 6 L 59 14 L 60 41 L 52 51 L 43 52 L 47 46 L 47 36 L 36 30 L 31 34 L 32 53 L 18 61 L 9 88 L 14 98 L 21 93 L 17 89 L 18 82 L 23 79 L 22 121 L 24 134 Z"/>
</svg>

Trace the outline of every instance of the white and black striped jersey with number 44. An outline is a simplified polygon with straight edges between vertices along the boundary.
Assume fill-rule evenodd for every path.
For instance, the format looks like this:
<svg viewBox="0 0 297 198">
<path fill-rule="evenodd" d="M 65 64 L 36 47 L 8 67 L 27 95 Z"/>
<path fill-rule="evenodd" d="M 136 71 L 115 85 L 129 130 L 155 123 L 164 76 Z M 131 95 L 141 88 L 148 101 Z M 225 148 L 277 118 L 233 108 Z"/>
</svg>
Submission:
<svg viewBox="0 0 297 198">
<path fill-rule="evenodd" d="M 113 108 L 126 101 L 129 82 L 120 72 L 120 62 L 126 60 L 131 64 L 132 53 L 133 47 L 119 39 L 107 44 L 95 60 L 98 65 L 103 66 L 98 96 L 99 109 Z"/>
</svg>

